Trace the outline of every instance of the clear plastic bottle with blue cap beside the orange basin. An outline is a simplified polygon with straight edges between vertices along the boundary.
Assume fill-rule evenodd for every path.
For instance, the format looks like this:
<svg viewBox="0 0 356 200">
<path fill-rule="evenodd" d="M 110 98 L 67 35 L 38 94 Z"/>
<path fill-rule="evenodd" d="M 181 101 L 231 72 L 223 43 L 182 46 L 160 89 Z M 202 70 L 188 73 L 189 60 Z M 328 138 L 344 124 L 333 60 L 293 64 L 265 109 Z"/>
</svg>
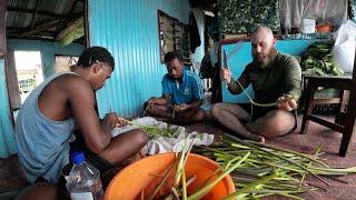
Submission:
<svg viewBox="0 0 356 200">
<path fill-rule="evenodd" d="M 67 177 L 66 188 L 71 200 L 101 200 L 103 192 L 99 170 L 85 161 L 81 151 L 73 152 L 70 160 L 73 168 Z"/>
</svg>

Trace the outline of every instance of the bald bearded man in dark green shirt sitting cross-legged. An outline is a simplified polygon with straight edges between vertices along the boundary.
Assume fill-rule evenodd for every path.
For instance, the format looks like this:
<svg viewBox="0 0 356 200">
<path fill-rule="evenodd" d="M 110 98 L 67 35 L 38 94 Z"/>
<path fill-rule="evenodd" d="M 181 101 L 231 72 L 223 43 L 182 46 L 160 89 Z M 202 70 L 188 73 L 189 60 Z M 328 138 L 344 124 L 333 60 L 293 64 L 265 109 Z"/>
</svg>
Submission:
<svg viewBox="0 0 356 200">
<path fill-rule="evenodd" d="M 297 127 L 295 109 L 301 92 L 301 69 L 295 58 L 278 52 L 275 46 L 276 39 L 271 30 L 259 27 L 251 34 L 254 60 L 241 76 L 234 80 L 228 68 L 221 69 L 221 79 L 227 82 L 231 93 L 241 93 L 251 84 L 255 91 L 254 102 L 277 102 L 274 107 L 254 104 L 251 116 L 238 104 L 214 104 L 212 117 L 245 139 L 265 142 L 265 138 L 287 134 Z"/>
</svg>

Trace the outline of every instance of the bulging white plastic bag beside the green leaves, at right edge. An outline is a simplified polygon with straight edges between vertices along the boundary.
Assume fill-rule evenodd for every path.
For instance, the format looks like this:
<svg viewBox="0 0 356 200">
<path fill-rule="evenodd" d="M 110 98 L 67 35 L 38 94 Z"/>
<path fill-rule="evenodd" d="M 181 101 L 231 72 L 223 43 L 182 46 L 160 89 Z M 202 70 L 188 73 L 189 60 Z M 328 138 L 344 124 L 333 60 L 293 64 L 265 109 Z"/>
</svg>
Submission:
<svg viewBox="0 0 356 200">
<path fill-rule="evenodd" d="M 335 44 L 332 53 L 335 63 L 343 68 L 345 72 L 353 72 L 356 47 L 355 37 L 356 24 L 350 20 L 342 24 L 335 33 Z"/>
</svg>

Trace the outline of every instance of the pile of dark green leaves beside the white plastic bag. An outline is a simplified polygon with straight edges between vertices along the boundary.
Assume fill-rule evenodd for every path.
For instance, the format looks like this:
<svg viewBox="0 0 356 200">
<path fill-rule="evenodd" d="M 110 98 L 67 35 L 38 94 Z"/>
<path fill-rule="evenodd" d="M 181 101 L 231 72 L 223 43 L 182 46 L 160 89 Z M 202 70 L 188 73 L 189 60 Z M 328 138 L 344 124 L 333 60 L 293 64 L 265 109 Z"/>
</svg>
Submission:
<svg viewBox="0 0 356 200">
<path fill-rule="evenodd" d="M 301 70 L 318 76 L 343 76 L 343 69 L 334 62 L 333 46 L 334 41 L 315 42 L 309 46 L 301 57 Z"/>
</svg>

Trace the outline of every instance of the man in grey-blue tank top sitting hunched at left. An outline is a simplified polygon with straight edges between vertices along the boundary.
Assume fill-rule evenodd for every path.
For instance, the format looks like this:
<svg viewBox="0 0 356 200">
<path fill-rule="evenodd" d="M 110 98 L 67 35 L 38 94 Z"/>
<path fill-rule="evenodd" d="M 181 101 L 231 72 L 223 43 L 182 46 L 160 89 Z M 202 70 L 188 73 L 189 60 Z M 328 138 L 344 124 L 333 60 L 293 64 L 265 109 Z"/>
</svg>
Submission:
<svg viewBox="0 0 356 200">
<path fill-rule="evenodd" d="M 16 122 L 16 141 L 29 182 L 58 183 L 62 168 L 69 163 L 76 124 L 89 151 L 86 156 L 95 157 L 90 164 L 99 169 L 120 163 L 146 144 L 147 136 L 139 129 L 111 137 L 115 127 L 125 124 L 116 113 L 106 114 L 99 122 L 95 91 L 102 88 L 113 69 L 110 52 L 92 47 L 81 53 L 71 72 L 44 80 L 27 98 Z"/>
</svg>

